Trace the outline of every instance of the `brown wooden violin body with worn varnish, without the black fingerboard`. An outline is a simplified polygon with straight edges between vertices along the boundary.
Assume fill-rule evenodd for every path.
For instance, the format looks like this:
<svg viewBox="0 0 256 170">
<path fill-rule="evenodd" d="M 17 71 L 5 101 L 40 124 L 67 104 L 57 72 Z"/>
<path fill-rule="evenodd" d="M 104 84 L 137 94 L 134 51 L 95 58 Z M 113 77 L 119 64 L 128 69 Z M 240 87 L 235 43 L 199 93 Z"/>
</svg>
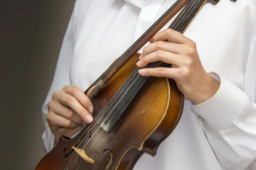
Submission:
<svg viewBox="0 0 256 170">
<path fill-rule="evenodd" d="M 94 118 L 134 71 L 139 56 L 134 55 L 93 99 Z M 84 126 L 88 129 L 84 136 L 61 136 L 36 170 L 131 170 L 143 153 L 156 154 L 157 147 L 176 127 L 183 103 L 183 94 L 173 79 L 151 77 L 110 133 L 95 123 L 94 128 Z M 85 161 L 72 146 L 83 149 L 94 162 Z"/>
</svg>

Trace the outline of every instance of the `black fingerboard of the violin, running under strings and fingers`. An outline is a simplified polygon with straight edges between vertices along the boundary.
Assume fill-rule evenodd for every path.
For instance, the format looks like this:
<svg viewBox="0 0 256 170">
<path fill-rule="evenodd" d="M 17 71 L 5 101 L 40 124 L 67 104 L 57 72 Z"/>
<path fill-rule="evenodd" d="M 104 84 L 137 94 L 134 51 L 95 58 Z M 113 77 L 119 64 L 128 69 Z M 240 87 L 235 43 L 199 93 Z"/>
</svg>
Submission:
<svg viewBox="0 0 256 170">
<path fill-rule="evenodd" d="M 183 32 L 205 2 L 206 0 L 191 0 L 183 8 L 183 10 L 180 11 L 180 14 L 178 14 L 169 28 Z M 146 68 L 155 68 L 160 64 L 160 61 L 149 63 Z M 122 85 L 122 87 L 115 94 L 115 96 L 113 96 L 108 105 L 103 109 L 102 113 L 104 114 L 101 116 L 98 123 L 106 132 L 110 133 L 132 99 L 134 99 L 140 88 L 142 88 L 146 83 L 148 77 L 140 76 L 138 73 L 139 69 L 140 68 L 137 67 L 133 71 L 131 76 L 127 79 L 126 83 Z M 102 82 L 100 82 L 98 85 L 99 88 L 102 88 L 101 83 Z M 98 87 L 96 86 L 96 88 Z M 112 105 L 112 103 L 116 103 L 116 105 Z"/>
</svg>

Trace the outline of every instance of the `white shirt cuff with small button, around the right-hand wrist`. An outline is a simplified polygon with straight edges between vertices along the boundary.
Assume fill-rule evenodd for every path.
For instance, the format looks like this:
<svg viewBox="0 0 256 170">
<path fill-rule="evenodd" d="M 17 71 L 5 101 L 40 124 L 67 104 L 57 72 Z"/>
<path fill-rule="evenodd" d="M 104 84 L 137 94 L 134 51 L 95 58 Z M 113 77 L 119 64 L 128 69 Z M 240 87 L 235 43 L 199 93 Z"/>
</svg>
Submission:
<svg viewBox="0 0 256 170">
<path fill-rule="evenodd" d="M 215 72 L 209 75 L 220 82 L 217 93 L 204 103 L 192 105 L 191 110 L 198 117 L 204 132 L 214 133 L 224 129 L 239 116 L 247 95 Z"/>
</svg>

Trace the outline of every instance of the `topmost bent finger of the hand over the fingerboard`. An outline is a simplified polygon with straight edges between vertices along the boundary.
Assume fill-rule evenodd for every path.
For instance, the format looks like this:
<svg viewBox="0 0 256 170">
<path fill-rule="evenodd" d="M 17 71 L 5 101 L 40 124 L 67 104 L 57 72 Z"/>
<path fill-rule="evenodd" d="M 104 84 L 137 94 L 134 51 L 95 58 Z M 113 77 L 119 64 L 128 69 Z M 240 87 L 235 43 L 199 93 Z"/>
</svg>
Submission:
<svg viewBox="0 0 256 170">
<path fill-rule="evenodd" d="M 169 42 L 174 42 L 174 43 L 177 43 L 177 44 L 184 44 L 184 43 L 186 43 L 188 38 L 185 37 L 180 32 L 174 31 L 171 28 L 163 30 L 163 31 L 157 33 L 153 37 L 153 42 L 165 41 L 165 40 L 168 40 Z"/>
</svg>

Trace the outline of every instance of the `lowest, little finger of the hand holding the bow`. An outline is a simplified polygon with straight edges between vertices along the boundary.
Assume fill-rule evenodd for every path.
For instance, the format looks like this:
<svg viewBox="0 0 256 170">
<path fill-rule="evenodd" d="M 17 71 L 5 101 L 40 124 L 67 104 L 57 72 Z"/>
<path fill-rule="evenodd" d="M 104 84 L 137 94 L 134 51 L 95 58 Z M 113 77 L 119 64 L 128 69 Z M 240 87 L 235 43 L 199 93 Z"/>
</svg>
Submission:
<svg viewBox="0 0 256 170">
<path fill-rule="evenodd" d="M 55 127 L 65 127 L 68 129 L 75 129 L 77 127 L 77 124 L 72 122 L 71 120 L 60 116 L 54 112 L 49 112 L 50 116 L 48 116 L 47 122 L 49 125 L 55 126 Z"/>
</svg>

